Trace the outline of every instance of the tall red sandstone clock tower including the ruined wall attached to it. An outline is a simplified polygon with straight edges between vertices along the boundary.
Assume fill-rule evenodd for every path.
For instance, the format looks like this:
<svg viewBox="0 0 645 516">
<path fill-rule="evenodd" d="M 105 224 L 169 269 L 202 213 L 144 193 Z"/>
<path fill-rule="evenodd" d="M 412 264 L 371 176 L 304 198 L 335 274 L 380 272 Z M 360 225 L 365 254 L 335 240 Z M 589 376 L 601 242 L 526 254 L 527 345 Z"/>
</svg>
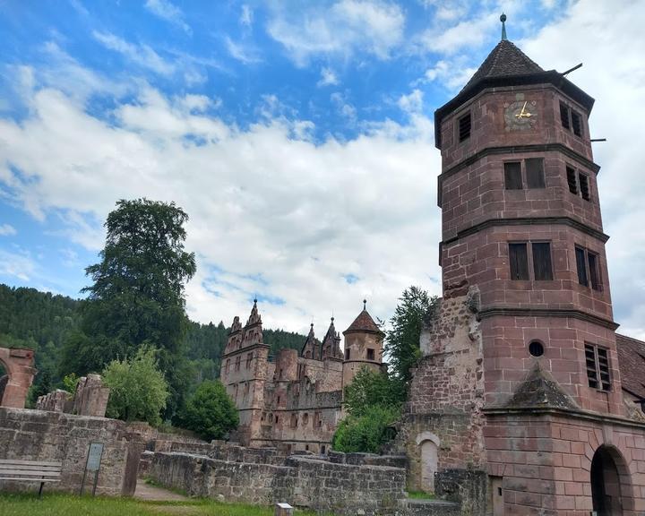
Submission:
<svg viewBox="0 0 645 516">
<path fill-rule="evenodd" d="M 473 513 L 645 511 L 645 431 L 621 390 L 593 104 L 503 30 L 434 114 L 443 300 L 402 434 L 413 487 L 442 495 L 465 479 L 457 491 L 478 500 Z"/>
</svg>

